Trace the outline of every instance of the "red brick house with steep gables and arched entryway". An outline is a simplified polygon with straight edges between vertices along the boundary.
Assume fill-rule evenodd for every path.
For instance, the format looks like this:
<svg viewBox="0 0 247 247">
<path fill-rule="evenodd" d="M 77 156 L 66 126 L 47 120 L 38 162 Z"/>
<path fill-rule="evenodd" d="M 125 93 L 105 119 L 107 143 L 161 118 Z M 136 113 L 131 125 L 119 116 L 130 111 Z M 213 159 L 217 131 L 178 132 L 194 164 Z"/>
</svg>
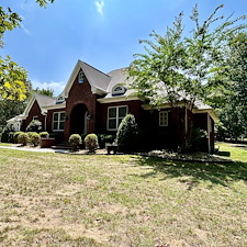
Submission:
<svg viewBox="0 0 247 247">
<path fill-rule="evenodd" d="M 68 139 L 74 133 L 114 134 L 125 114 L 132 113 L 141 130 L 151 133 L 147 142 L 158 141 L 169 148 L 179 146 L 193 119 L 195 127 L 207 132 L 204 149 L 213 150 L 217 116 L 211 106 L 198 102 L 191 112 L 181 102 L 172 109 L 169 104 L 151 109 L 136 97 L 134 90 L 124 87 L 131 80 L 126 79 L 124 69 L 104 74 L 78 60 L 64 91 L 56 99 L 34 94 L 24 113 L 15 120 L 23 131 L 32 120 L 40 120 L 44 131 L 63 133 Z M 182 130 L 179 134 L 178 125 Z"/>
</svg>

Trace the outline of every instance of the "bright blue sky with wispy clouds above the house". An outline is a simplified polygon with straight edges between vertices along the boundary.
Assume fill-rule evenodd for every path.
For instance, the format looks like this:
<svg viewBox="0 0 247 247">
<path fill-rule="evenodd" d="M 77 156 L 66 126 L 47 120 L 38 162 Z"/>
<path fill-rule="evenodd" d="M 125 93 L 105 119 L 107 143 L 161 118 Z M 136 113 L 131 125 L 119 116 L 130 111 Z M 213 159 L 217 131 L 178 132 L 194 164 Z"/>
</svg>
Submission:
<svg viewBox="0 0 247 247">
<path fill-rule="evenodd" d="M 4 0 L 23 19 L 21 29 L 4 35 L 0 56 L 10 55 L 29 72 L 33 87 L 64 89 L 76 63 L 81 59 L 109 72 L 126 67 L 138 44 L 155 30 L 164 34 L 175 16 L 184 12 L 184 26 L 199 4 L 204 20 L 221 3 L 221 13 L 247 14 L 246 0 L 56 0 L 46 9 L 34 0 Z"/>
</svg>

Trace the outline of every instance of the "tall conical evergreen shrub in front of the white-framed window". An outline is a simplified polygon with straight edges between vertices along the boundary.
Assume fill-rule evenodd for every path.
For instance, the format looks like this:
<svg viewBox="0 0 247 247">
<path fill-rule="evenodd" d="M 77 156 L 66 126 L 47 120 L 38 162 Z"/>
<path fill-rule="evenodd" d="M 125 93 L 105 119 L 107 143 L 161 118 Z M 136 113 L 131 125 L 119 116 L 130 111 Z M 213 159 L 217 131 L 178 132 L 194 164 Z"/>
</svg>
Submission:
<svg viewBox="0 0 247 247">
<path fill-rule="evenodd" d="M 138 149 L 138 127 L 134 115 L 127 114 L 122 120 L 116 133 L 116 142 L 120 151 L 131 153 Z"/>
</svg>

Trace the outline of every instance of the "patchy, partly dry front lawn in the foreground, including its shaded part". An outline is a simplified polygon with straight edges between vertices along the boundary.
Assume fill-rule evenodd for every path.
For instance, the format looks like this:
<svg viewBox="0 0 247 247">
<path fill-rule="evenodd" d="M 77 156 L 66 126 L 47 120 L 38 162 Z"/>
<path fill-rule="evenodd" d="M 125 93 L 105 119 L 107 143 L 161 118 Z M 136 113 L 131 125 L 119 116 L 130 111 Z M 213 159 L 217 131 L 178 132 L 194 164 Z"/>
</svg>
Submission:
<svg viewBox="0 0 247 247">
<path fill-rule="evenodd" d="M 247 246 L 247 164 L 0 149 L 0 246 Z"/>
</svg>

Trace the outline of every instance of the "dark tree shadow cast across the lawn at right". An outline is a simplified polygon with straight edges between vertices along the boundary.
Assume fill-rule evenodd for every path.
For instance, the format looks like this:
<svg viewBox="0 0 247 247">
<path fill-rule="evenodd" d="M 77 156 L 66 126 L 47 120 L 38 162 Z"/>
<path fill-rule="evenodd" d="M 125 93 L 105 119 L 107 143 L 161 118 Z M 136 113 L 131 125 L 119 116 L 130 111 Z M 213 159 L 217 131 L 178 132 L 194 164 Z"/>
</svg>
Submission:
<svg viewBox="0 0 247 247">
<path fill-rule="evenodd" d="M 224 187 L 228 187 L 233 181 L 243 180 L 247 182 L 247 162 L 189 162 L 139 157 L 137 164 L 151 167 L 151 171 L 142 175 L 143 178 L 155 177 L 158 172 L 161 172 L 165 175 L 162 179 L 181 178 L 180 182 L 189 183 L 188 189 L 192 189 L 202 181 L 210 181 L 212 186 L 221 184 Z"/>
</svg>

